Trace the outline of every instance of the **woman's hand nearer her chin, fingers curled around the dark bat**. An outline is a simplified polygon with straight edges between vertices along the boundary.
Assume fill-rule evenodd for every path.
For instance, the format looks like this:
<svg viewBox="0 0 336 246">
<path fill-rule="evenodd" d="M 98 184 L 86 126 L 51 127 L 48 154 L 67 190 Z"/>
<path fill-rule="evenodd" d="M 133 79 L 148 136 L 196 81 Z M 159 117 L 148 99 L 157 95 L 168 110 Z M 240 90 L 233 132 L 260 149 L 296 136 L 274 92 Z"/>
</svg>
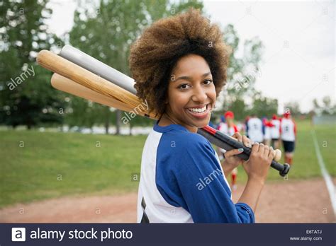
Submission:
<svg viewBox="0 0 336 246">
<path fill-rule="evenodd" d="M 240 141 L 242 144 L 244 144 L 247 147 L 252 146 L 252 141 L 247 138 L 247 136 L 242 136 L 239 132 L 236 132 L 232 136 L 234 139 L 237 139 L 237 141 Z M 226 151 L 224 153 L 224 160 L 222 162 L 222 168 L 225 173 L 225 176 L 229 175 L 233 169 L 237 168 L 238 165 L 244 163 L 245 160 L 242 160 L 242 158 L 238 157 L 240 153 L 242 153 L 242 148 L 235 148 L 230 151 Z"/>
</svg>

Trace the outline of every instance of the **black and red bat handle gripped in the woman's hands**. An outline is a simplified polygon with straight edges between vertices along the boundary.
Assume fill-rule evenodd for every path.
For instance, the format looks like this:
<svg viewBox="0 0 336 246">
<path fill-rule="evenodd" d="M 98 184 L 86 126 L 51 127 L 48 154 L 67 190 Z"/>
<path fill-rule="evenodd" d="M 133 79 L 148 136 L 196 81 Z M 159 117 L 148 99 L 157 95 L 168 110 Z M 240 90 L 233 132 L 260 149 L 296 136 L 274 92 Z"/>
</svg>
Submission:
<svg viewBox="0 0 336 246">
<path fill-rule="evenodd" d="M 214 134 L 211 134 L 210 132 L 208 132 L 206 129 L 200 128 L 200 129 L 198 129 L 197 132 L 198 132 L 198 134 L 201 134 L 206 139 L 208 139 L 208 141 L 210 141 L 211 144 L 215 144 L 215 146 L 223 148 L 226 151 L 230 151 L 234 148 L 242 148 L 243 152 L 240 153 L 237 156 L 239 156 L 243 160 L 248 160 L 250 158 L 250 154 L 251 154 L 251 151 L 252 151 L 251 148 L 248 148 L 248 147 L 244 146 L 239 141 L 237 141 L 235 139 L 232 139 L 230 136 L 227 136 L 227 135 L 221 133 L 220 131 L 216 131 L 216 133 L 214 135 Z M 279 175 L 284 177 L 288 174 L 291 166 L 288 165 L 287 163 L 281 164 L 281 163 L 278 163 L 275 160 L 272 160 L 271 161 L 271 168 L 274 168 L 275 170 L 278 170 Z"/>
</svg>

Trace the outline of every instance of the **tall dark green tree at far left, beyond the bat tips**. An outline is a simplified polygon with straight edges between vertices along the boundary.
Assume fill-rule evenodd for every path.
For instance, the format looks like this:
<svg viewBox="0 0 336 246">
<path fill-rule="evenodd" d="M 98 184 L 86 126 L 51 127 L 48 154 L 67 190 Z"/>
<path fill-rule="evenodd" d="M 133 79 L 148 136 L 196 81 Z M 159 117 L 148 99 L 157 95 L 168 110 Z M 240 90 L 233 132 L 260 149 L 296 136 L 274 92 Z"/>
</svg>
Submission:
<svg viewBox="0 0 336 246">
<path fill-rule="evenodd" d="M 39 123 L 60 123 L 62 96 L 48 83 L 51 73 L 35 63 L 40 49 L 50 49 L 57 37 L 47 32 L 52 11 L 47 0 L 1 1 L 0 123 L 28 129 Z"/>
</svg>

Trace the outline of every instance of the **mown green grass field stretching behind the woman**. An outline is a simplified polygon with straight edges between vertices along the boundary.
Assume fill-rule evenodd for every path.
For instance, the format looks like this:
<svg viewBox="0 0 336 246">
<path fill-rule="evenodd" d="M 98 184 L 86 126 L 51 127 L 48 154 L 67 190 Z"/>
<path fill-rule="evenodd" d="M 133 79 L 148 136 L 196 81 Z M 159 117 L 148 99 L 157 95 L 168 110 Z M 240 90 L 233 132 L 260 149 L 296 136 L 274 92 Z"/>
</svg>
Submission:
<svg viewBox="0 0 336 246">
<path fill-rule="evenodd" d="M 298 122 L 289 179 L 319 177 L 309 122 Z M 335 126 L 315 127 L 330 175 L 335 171 Z M 0 131 L 0 207 L 73 194 L 135 192 L 147 136 Z M 245 182 L 240 170 L 238 181 Z M 269 180 L 284 180 L 269 170 Z"/>
</svg>

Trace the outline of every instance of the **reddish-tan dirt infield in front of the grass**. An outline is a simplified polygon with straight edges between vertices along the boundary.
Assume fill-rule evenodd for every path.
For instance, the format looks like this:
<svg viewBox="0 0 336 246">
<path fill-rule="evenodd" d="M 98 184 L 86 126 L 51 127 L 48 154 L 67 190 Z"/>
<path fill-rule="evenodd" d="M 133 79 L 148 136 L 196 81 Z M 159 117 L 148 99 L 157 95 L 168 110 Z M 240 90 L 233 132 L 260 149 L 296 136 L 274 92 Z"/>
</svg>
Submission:
<svg viewBox="0 0 336 246">
<path fill-rule="evenodd" d="M 334 179 L 335 183 L 335 179 Z M 237 201 L 243 186 L 233 192 Z M 0 210 L 1 223 L 133 223 L 137 194 L 64 197 L 16 204 Z M 256 213 L 257 223 L 335 222 L 322 178 L 267 182 Z"/>
</svg>

